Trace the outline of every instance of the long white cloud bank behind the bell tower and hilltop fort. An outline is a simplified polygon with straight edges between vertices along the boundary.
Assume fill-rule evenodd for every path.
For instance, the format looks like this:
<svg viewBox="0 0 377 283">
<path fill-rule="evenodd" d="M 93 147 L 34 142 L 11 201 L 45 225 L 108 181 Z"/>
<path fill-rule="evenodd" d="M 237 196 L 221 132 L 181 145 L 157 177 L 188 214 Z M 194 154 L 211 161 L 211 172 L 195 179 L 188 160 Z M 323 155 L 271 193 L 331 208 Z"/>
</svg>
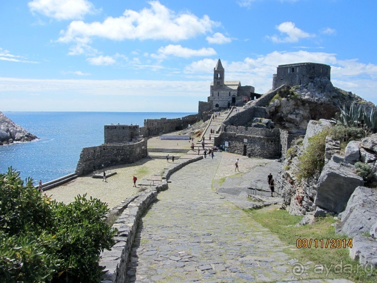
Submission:
<svg viewBox="0 0 377 283">
<path fill-rule="evenodd" d="M 217 59 L 203 59 L 192 62 L 185 68 L 188 76 L 205 79 L 211 82 L 213 69 Z M 336 54 L 323 52 L 278 52 L 256 58 L 246 57 L 242 61 L 228 62 L 221 60 L 225 69 L 225 80 L 241 81 L 242 85 L 253 85 L 255 91 L 265 93 L 272 87 L 272 75 L 276 67 L 283 64 L 299 62 L 316 62 L 331 66 L 331 82 L 333 85 L 352 91 L 364 99 L 376 104 L 373 95 L 377 87 L 377 65 L 364 64 L 358 59 L 338 59 Z"/>
</svg>

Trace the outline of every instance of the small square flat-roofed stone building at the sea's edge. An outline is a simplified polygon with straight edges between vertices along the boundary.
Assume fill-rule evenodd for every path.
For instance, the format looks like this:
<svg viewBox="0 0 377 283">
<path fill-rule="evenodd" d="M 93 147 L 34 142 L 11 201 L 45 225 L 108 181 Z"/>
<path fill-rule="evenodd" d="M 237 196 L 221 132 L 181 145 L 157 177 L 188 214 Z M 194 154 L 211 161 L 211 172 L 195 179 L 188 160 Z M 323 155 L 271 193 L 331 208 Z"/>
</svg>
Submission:
<svg viewBox="0 0 377 283">
<path fill-rule="evenodd" d="M 105 125 L 105 144 L 135 142 L 139 139 L 140 132 L 138 125 Z"/>
</svg>

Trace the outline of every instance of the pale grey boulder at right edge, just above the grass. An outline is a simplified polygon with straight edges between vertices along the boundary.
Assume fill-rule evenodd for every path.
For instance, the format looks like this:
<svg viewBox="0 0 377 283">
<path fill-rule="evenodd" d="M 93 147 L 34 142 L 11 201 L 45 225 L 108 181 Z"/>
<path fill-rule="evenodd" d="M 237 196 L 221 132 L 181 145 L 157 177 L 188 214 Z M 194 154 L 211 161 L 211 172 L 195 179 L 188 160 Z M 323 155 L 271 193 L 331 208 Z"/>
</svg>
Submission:
<svg viewBox="0 0 377 283">
<path fill-rule="evenodd" d="M 370 233 L 377 222 L 376 203 L 376 189 L 357 187 L 342 213 L 342 221 L 336 231 L 350 237 Z"/>
</svg>

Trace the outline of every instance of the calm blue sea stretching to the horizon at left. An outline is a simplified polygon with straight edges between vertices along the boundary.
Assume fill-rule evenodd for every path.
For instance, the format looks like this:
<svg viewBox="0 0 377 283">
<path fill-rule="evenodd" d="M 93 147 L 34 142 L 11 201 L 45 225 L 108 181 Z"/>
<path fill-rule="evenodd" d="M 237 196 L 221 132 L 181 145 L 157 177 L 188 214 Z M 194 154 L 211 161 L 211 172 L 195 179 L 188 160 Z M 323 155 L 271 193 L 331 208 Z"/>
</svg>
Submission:
<svg viewBox="0 0 377 283">
<path fill-rule="evenodd" d="M 73 173 L 83 147 L 104 143 L 104 125 L 144 125 L 144 119 L 179 118 L 193 113 L 3 112 L 39 140 L 0 146 L 0 172 L 12 166 L 23 179 L 54 180 Z"/>
</svg>

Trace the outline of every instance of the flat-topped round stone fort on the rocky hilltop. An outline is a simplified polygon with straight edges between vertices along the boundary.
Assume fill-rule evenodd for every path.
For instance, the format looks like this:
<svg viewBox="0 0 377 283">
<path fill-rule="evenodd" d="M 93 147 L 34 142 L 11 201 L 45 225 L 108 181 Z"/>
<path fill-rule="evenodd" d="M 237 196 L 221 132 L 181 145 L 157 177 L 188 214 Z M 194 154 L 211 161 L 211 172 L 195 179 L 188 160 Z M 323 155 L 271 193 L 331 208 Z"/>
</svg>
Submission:
<svg viewBox="0 0 377 283">
<path fill-rule="evenodd" d="M 278 65 L 272 78 L 272 89 L 281 85 L 306 85 L 319 77 L 326 77 L 330 81 L 330 71 L 329 65 L 319 63 Z"/>
</svg>

